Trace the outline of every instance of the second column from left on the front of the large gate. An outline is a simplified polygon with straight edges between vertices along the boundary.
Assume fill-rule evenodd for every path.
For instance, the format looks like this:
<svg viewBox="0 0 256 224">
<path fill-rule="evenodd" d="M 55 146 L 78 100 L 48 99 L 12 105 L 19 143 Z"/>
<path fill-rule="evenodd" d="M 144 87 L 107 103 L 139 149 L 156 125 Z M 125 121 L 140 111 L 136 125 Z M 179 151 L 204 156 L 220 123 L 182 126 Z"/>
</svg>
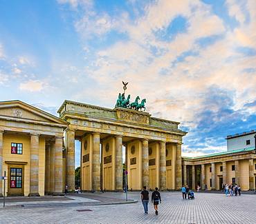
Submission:
<svg viewBox="0 0 256 224">
<path fill-rule="evenodd" d="M 100 191 L 100 133 L 93 133 L 93 191 Z"/>
</svg>

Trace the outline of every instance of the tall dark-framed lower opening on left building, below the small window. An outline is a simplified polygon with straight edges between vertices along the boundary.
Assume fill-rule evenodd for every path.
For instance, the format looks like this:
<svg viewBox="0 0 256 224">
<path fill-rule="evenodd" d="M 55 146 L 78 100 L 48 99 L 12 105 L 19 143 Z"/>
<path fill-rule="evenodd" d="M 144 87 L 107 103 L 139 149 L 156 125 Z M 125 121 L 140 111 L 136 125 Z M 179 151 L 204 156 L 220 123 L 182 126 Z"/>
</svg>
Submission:
<svg viewBox="0 0 256 224">
<path fill-rule="evenodd" d="M 21 167 L 10 167 L 8 196 L 24 196 L 23 171 Z"/>
</svg>

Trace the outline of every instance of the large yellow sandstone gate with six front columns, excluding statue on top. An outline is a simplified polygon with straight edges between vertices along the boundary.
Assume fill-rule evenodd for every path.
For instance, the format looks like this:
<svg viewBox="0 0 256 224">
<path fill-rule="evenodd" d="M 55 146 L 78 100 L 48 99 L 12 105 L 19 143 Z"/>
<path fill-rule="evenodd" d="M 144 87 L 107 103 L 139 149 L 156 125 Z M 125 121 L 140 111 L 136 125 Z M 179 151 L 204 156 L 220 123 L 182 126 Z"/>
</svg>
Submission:
<svg viewBox="0 0 256 224">
<path fill-rule="evenodd" d="M 64 101 L 58 113 L 70 123 L 65 134 L 69 186 L 75 183 L 75 140 L 79 140 L 82 190 L 122 190 L 123 159 L 129 190 L 181 189 L 186 132 L 179 130 L 178 122 L 119 106 L 109 109 L 74 101 Z"/>
</svg>

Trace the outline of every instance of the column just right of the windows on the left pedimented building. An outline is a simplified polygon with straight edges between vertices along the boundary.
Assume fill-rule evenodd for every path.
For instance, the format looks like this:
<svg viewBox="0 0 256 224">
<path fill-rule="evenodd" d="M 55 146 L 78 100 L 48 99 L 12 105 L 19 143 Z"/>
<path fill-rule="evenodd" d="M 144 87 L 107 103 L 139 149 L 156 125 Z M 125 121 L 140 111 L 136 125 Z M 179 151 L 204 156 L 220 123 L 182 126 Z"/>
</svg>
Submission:
<svg viewBox="0 0 256 224">
<path fill-rule="evenodd" d="M 40 196 L 39 183 L 39 135 L 30 135 L 30 193 L 28 196 Z"/>
</svg>

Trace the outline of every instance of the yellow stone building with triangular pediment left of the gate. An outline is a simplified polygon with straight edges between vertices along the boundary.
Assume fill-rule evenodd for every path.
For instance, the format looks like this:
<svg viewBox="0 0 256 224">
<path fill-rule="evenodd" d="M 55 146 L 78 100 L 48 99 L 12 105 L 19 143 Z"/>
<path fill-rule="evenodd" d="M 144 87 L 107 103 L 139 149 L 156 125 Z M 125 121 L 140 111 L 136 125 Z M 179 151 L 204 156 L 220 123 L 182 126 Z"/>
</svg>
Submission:
<svg viewBox="0 0 256 224">
<path fill-rule="evenodd" d="M 8 196 L 62 194 L 68 122 L 21 101 L 0 102 L 0 173 Z M 0 179 L 0 195 L 3 195 Z"/>
</svg>

